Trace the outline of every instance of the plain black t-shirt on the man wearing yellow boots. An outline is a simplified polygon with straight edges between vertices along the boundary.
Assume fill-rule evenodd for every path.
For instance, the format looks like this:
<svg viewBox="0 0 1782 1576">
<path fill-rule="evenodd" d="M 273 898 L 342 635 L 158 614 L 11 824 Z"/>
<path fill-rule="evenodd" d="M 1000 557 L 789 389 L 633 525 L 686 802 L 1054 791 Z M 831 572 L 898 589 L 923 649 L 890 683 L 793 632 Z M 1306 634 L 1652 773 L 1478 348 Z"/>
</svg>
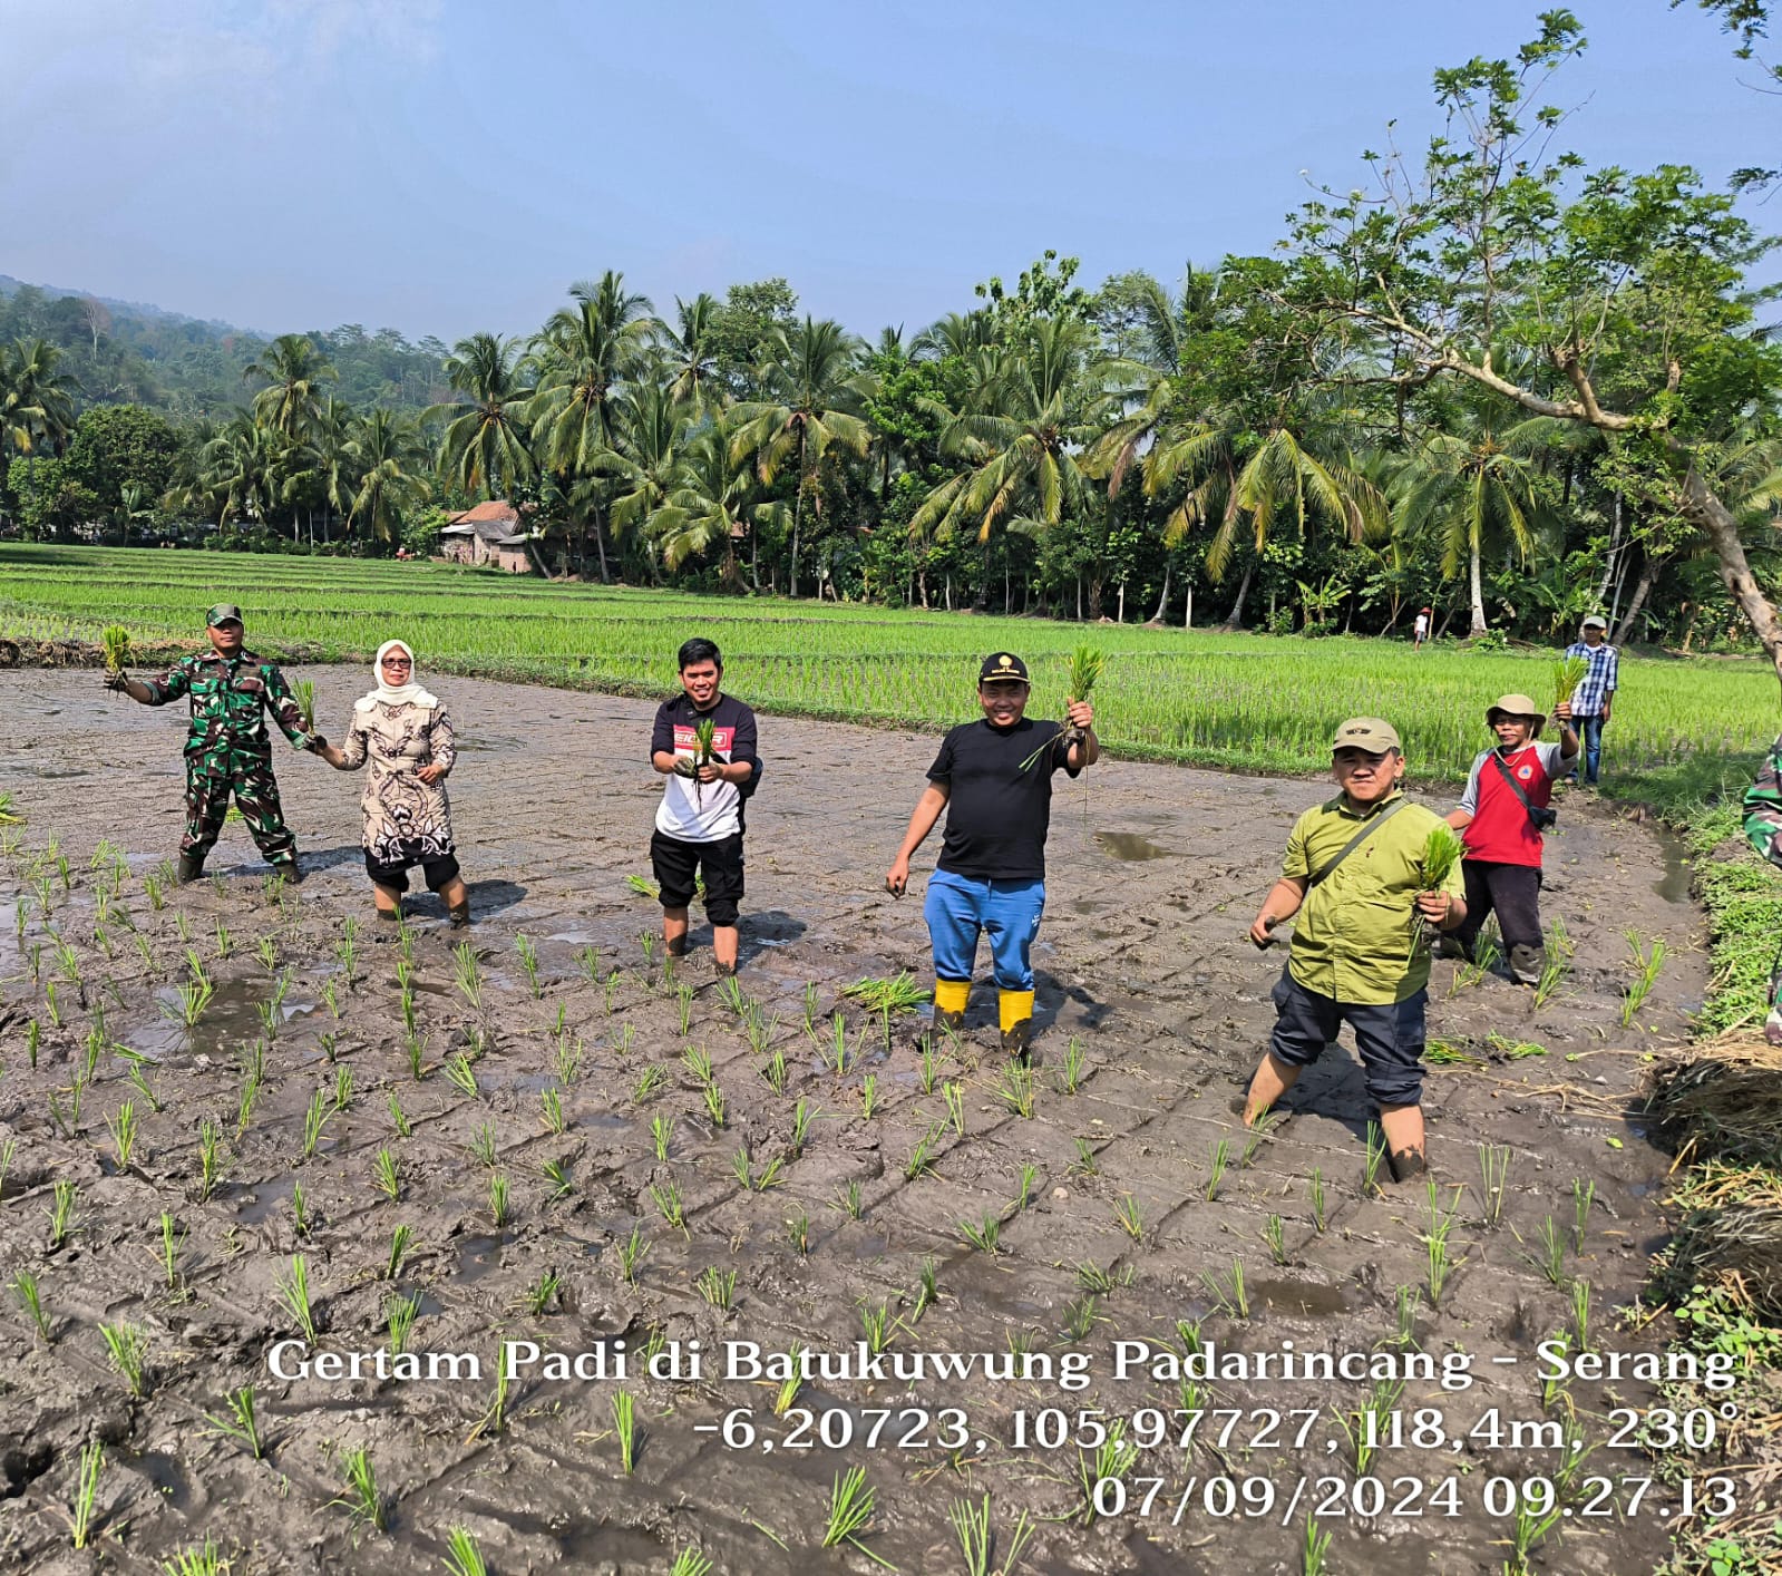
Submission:
<svg viewBox="0 0 1782 1576">
<path fill-rule="evenodd" d="M 941 740 L 928 781 L 948 792 L 941 870 L 977 881 L 1044 881 L 1046 827 L 1051 824 L 1051 774 L 1064 765 L 1053 743 L 1032 767 L 1025 761 L 1064 733 L 1060 722 L 1023 717 L 1010 729 L 980 717 Z M 1082 768 L 1078 768 L 1082 770 Z"/>
</svg>

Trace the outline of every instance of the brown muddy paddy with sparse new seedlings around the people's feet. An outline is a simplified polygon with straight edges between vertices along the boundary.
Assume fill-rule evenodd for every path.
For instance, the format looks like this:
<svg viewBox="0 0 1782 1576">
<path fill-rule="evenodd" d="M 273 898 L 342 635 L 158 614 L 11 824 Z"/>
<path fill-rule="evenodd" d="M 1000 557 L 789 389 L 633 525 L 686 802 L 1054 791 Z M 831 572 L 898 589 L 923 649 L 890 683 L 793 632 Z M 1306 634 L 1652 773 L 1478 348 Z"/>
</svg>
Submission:
<svg viewBox="0 0 1782 1576">
<path fill-rule="evenodd" d="M 310 676 L 335 733 L 364 676 Z M 1670 1159 L 1645 1137 L 1638 1088 L 1686 1038 L 1707 966 L 1688 872 L 1652 829 L 1565 800 L 1545 902 L 1575 954 L 1541 1007 L 1504 977 L 1436 964 L 1433 1221 L 1422 1184 L 1367 1186 L 1370 1112 L 1347 1045 L 1263 1141 L 1237 1121 L 1281 966 L 1244 929 L 1294 817 L 1329 792 L 1317 779 L 1108 761 L 1060 786 L 1023 1082 L 987 982 L 966 1032 L 936 1045 L 925 1013 L 887 1020 L 841 995 L 903 970 L 928 982 L 921 899 L 893 900 L 882 875 L 930 736 L 763 718 L 729 993 L 700 923 L 672 977 L 640 940 L 659 925 L 627 886 L 647 874 L 652 708 L 435 688 L 462 742 L 451 795 L 474 966 L 429 895 L 401 932 L 374 922 L 358 781 L 283 742 L 301 888 L 271 891 L 232 824 L 212 879 L 155 890 L 182 824 L 184 708 L 109 697 L 91 672 L 0 674 L 0 786 L 29 817 L 0 859 L 0 1278 L 34 1280 L 48 1335 L 5 1293 L 7 1569 L 159 1571 L 210 1535 L 237 1576 L 426 1571 L 462 1526 L 497 1572 L 668 1571 L 690 1549 L 736 1576 L 968 1571 L 948 1508 L 987 1494 L 984 1569 L 1025 1515 L 1023 1571 L 1301 1571 L 1308 1521 L 1331 1535 L 1329 1571 L 1497 1571 L 1516 1485 L 1574 1455 L 1611 1487 L 1598 1514 L 1556 1521 L 1533 1564 L 1663 1558 L 1675 1483 L 1604 1514 L 1627 1503 L 1623 1474 L 1661 1476 L 1607 1444 L 1613 1408 L 1654 1405 L 1657 1387 L 1581 1376 L 1543 1392 L 1534 1360 L 1575 1326 L 1579 1284 L 1588 1346 L 1659 1350 L 1625 1316 L 1666 1232 Z M 52 836 L 66 881 L 37 858 Z M 121 859 L 103 850 L 93 868 L 102 840 Z M 1623 1027 L 1631 927 L 1672 956 Z M 214 997 L 187 1027 L 192 963 Z M 137 1130 L 121 1162 L 125 1102 Z M 1508 1150 L 1499 1191 L 1481 1146 Z M 1445 1244 L 1435 1298 L 1431 1235 Z M 392 1350 L 392 1307 L 406 1351 L 479 1355 L 479 1376 L 269 1369 L 282 1341 L 287 1364 Z M 139 1394 L 102 1325 L 139 1332 Z M 629 1369 L 535 1364 L 503 1391 L 504 1341 L 608 1362 L 624 1341 Z M 693 1341 L 700 1378 L 645 1373 Z M 725 1342 L 857 1360 L 862 1341 L 905 1358 L 1025 1353 L 1035 1376 L 820 1376 L 788 1405 L 779 1385 L 723 1373 Z M 1288 1342 L 1422 1351 L 1438 1371 L 1470 1358 L 1472 1383 L 1119 1378 L 1121 1341 L 1178 1360 Z M 1059 1382 L 1075 1360 L 1082 1389 Z M 258 1458 L 207 1423 L 242 1387 Z M 1370 1398 L 1374 1423 L 1358 1416 Z M 1440 1442 L 1413 1442 L 1418 1417 Z M 1128 1423 L 1098 1464 L 1110 1419 Z M 1557 1421 L 1568 1442 L 1516 1419 Z M 1379 1449 L 1361 1471 L 1351 1435 L 1365 1428 Z M 376 1480 L 360 1512 L 381 1530 L 349 1505 L 360 1449 Z M 871 1519 L 825 1547 L 836 1476 L 855 1467 Z M 1103 1473 L 1126 1503 L 1105 1489 L 1117 1514 L 1092 1517 L 1083 1478 Z"/>
</svg>

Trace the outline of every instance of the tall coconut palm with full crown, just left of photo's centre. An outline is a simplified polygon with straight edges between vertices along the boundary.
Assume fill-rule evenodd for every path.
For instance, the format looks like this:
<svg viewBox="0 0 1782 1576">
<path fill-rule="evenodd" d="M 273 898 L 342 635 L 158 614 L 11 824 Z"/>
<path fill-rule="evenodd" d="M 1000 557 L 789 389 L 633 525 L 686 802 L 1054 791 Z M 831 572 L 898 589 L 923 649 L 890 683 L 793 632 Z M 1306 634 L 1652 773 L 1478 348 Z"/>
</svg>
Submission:
<svg viewBox="0 0 1782 1576">
<path fill-rule="evenodd" d="M 820 469 L 829 449 L 864 455 L 871 428 L 861 419 L 866 387 L 859 373 L 861 342 L 839 323 L 805 317 L 793 328 L 775 328 L 761 365 L 764 399 L 738 405 L 731 428 L 731 458 L 754 456 L 763 487 L 791 462 L 798 478 L 793 494 L 789 595 L 798 595 L 798 546 L 804 501 L 822 512 Z"/>
</svg>

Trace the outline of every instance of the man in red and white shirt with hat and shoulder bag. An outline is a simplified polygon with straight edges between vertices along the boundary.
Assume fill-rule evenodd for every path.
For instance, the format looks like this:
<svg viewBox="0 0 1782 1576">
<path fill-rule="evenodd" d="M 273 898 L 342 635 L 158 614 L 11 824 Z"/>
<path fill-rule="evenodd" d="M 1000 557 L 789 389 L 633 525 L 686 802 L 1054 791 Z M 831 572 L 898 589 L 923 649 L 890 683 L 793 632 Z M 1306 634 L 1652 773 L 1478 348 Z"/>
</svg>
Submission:
<svg viewBox="0 0 1782 1576">
<path fill-rule="evenodd" d="M 1499 695 L 1484 722 L 1497 749 L 1472 763 L 1467 792 L 1447 822 L 1467 845 L 1467 920 L 1452 943 L 1468 959 L 1486 915 L 1497 913 L 1509 972 L 1538 984 L 1547 961 L 1541 934 L 1541 827 L 1552 825 L 1554 779 L 1577 758 L 1572 708 L 1559 702 L 1559 743 L 1538 743 L 1540 708 L 1527 695 Z"/>
</svg>

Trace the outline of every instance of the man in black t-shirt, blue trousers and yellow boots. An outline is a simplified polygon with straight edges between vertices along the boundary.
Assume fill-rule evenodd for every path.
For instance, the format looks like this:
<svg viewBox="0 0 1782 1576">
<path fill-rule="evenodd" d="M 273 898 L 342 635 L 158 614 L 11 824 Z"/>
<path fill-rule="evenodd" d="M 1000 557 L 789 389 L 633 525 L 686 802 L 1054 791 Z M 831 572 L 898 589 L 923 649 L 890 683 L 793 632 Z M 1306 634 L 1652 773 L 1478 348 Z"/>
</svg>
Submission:
<svg viewBox="0 0 1782 1576">
<path fill-rule="evenodd" d="M 1078 776 L 1101 754 L 1087 701 L 1069 701 L 1059 722 L 1025 717 L 1026 663 L 1009 653 L 984 660 L 984 717 L 952 729 L 928 768 L 909 831 L 886 872 L 886 891 L 909 886 L 909 856 L 946 811 L 946 838 L 923 918 L 934 943 L 934 1020 L 959 1027 L 971 995 L 978 932 L 991 938 L 1003 1050 L 1025 1057 L 1034 1034 L 1034 938 L 1046 907 L 1046 827 L 1051 774 Z"/>
</svg>

